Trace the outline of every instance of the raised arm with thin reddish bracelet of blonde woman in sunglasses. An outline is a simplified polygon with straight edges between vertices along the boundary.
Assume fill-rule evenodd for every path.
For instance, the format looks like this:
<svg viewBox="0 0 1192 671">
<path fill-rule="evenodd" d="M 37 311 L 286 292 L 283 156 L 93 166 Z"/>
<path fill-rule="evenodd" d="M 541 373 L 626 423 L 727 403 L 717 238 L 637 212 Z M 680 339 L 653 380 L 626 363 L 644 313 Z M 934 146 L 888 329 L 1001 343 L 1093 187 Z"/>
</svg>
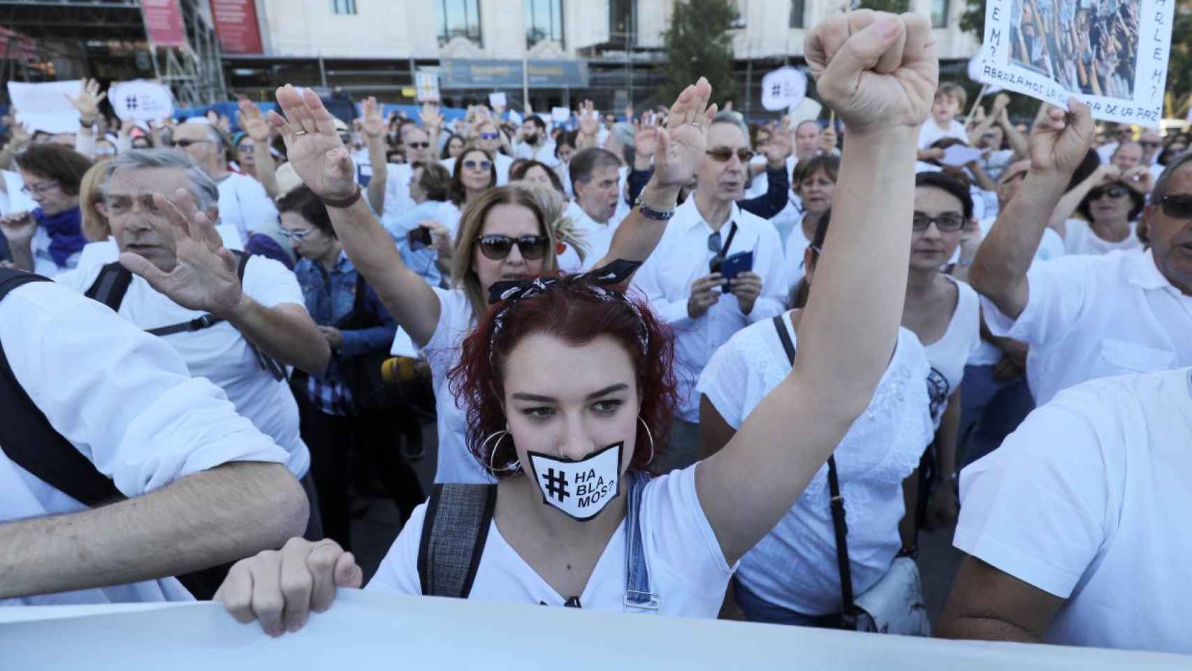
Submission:
<svg viewBox="0 0 1192 671">
<path fill-rule="evenodd" d="M 331 113 L 309 88 L 299 93 L 287 85 L 277 95 L 285 118 L 271 111 L 269 123 L 281 132 L 294 172 L 324 200 L 352 199 L 360 187 L 352 157 L 335 133 Z M 368 205 L 356 199 L 347 207 L 328 205 L 327 212 L 343 250 L 397 324 L 410 334 L 415 344 L 429 342 L 439 325 L 439 296 L 402 262 L 393 237 L 373 217 Z"/>
</svg>

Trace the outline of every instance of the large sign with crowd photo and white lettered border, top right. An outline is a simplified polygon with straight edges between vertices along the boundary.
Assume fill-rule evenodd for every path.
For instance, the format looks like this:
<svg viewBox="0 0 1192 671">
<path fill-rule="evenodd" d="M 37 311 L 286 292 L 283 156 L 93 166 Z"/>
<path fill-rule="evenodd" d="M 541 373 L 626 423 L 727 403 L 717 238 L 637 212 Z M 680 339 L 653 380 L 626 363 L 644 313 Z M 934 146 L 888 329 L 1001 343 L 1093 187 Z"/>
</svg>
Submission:
<svg viewBox="0 0 1192 671">
<path fill-rule="evenodd" d="M 1098 119 L 1159 123 L 1173 0 L 989 0 L 979 80 Z"/>
</svg>

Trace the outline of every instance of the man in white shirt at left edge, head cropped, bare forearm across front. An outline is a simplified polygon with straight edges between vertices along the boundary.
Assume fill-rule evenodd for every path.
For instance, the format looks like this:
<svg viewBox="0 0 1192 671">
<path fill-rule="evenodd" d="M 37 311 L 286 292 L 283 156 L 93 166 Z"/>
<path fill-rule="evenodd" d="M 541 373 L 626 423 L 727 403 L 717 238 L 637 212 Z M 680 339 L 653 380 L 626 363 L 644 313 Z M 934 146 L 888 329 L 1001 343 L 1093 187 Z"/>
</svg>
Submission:
<svg viewBox="0 0 1192 671">
<path fill-rule="evenodd" d="M 0 384 L 129 497 L 87 509 L 0 449 L 0 605 L 190 601 L 170 576 L 302 533 L 285 451 L 162 340 L 32 281 L 0 300 Z"/>
</svg>

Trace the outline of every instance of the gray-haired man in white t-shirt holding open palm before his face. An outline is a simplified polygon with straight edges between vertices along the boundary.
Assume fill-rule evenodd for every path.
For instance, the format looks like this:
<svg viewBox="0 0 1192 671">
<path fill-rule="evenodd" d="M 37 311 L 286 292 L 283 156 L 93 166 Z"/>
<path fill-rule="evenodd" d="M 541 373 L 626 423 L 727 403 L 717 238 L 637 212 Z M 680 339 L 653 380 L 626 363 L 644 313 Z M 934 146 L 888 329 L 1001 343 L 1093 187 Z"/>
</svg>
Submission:
<svg viewBox="0 0 1192 671">
<path fill-rule="evenodd" d="M 286 466 L 308 483 L 310 453 L 285 366 L 321 374 L 330 349 L 293 273 L 221 243 L 212 225 L 218 190 L 180 153 L 119 154 L 101 192 L 98 209 L 111 224 L 119 261 L 80 267 L 56 281 L 162 337 L 192 375 L 222 387 L 238 414 L 281 446 L 290 454 Z"/>
</svg>

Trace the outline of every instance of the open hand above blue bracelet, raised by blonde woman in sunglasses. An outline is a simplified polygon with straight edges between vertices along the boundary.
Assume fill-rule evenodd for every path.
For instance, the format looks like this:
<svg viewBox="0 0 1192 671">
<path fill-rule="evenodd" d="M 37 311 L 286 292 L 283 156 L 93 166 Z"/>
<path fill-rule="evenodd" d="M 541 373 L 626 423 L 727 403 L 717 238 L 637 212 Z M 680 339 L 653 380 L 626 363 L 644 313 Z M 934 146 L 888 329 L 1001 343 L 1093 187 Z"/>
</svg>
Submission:
<svg viewBox="0 0 1192 671">
<path fill-rule="evenodd" d="M 712 85 L 700 81 L 683 89 L 666 116 L 666 128 L 658 129 L 654 143 L 654 176 L 652 181 L 662 187 L 679 188 L 685 185 L 707 147 L 708 125 L 716 116 L 716 106 L 708 106 Z"/>
</svg>

